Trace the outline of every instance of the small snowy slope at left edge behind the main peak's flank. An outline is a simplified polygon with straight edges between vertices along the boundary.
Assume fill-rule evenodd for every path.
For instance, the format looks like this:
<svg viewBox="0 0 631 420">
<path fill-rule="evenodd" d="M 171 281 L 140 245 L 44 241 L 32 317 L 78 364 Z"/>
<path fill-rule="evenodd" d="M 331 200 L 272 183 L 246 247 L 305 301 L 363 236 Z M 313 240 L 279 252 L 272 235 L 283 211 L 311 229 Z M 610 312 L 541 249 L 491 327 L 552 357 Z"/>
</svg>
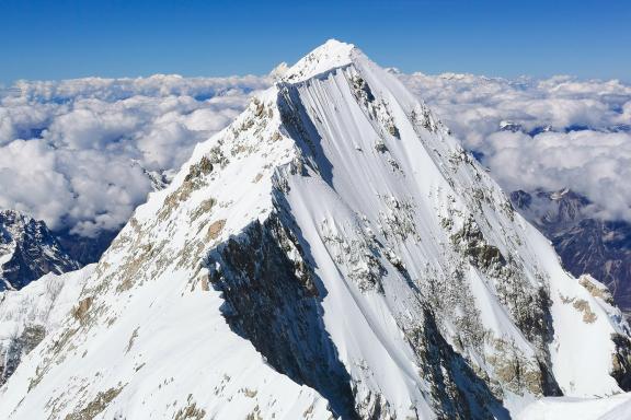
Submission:
<svg viewBox="0 0 631 420">
<path fill-rule="evenodd" d="M 93 268 L 48 273 L 19 291 L 0 292 L 0 384 L 47 334 L 59 328 Z"/>
</svg>

